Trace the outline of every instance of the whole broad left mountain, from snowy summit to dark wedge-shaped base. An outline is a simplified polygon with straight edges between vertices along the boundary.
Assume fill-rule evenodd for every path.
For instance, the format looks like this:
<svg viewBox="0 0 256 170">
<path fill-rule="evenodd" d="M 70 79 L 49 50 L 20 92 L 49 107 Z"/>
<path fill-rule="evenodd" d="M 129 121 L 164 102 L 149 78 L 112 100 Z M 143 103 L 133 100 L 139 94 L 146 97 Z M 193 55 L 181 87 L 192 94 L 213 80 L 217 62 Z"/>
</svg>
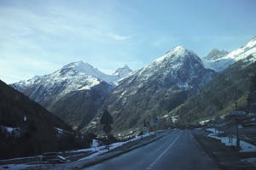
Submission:
<svg viewBox="0 0 256 170">
<path fill-rule="evenodd" d="M 82 61 L 63 66 L 42 77 L 11 84 L 73 128 L 90 122 L 110 93 L 118 76 L 109 76 Z"/>
</svg>

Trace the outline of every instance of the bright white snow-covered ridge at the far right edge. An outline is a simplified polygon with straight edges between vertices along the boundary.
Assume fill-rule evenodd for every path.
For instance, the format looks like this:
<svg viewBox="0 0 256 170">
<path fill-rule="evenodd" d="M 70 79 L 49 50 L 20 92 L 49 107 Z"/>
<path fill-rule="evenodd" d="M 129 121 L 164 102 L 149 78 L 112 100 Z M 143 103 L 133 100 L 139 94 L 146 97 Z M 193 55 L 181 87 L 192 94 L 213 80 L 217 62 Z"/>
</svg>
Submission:
<svg viewBox="0 0 256 170">
<path fill-rule="evenodd" d="M 214 71 L 224 71 L 228 66 L 234 64 L 240 59 L 246 59 L 248 55 L 256 55 L 256 37 L 241 48 L 237 48 L 230 54 L 224 55 L 223 57 L 218 57 L 217 59 L 204 59 L 204 64 L 207 68 Z M 254 58 L 253 58 L 254 59 Z"/>
</svg>

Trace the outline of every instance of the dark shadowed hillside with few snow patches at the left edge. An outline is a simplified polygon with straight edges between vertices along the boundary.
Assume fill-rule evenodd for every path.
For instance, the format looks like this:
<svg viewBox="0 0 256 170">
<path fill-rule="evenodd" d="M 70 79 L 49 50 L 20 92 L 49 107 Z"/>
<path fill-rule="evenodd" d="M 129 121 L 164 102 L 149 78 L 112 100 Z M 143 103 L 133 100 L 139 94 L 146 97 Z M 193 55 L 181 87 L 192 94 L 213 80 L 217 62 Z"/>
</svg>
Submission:
<svg viewBox="0 0 256 170">
<path fill-rule="evenodd" d="M 67 123 L 2 81 L 0 94 L 0 158 L 59 150 L 63 142 L 58 138 L 60 131 L 72 138 Z"/>
</svg>

